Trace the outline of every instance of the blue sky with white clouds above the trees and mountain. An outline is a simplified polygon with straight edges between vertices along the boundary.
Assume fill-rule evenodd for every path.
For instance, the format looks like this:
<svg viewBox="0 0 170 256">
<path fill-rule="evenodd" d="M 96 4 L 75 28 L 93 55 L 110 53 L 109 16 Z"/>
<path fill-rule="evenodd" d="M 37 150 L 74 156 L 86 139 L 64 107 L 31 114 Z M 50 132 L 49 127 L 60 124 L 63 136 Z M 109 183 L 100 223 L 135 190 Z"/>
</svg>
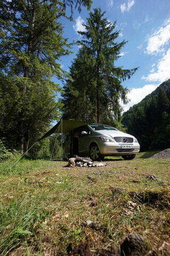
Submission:
<svg viewBox="0 0 170 256">
<path fill-rule="evenodd" d="M 131 89 L 128 94 L 131 102 L 124 106 L 126 111 L 170 78 L 170 0 L 94 0 L 91 11 L 95 7 L 106 11 L 105 17 L 109 21 L 117 22 L 116 29 L 120 29 L 117 41 L 128 41 L 116 65 L 140 67 L 123 83 Z M 77 30 L 84 29 L 82 22 L 86 22 L 89 12 L 82 7 L 81 13 L 74 11 L 74 21 L 61 20 L 68 42 L 80 39 Z M 78 46 L 75 45 L 72 51 L 74 53 L 61 59 L 65 71 L 69 71 Z"/>
</svg>

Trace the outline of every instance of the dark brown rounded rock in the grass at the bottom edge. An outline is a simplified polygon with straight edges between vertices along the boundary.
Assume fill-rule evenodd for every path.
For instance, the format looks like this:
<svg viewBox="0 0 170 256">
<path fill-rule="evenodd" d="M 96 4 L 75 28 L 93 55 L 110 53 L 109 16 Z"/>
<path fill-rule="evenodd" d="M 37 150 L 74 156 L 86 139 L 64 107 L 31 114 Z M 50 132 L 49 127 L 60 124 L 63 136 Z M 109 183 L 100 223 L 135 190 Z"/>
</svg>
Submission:
<svg viewBox="0 0 170 256">
<path fill-rule="evenodd" d="M 120 245 L 121 255 L 124 256 L 141 256 L 148 251 L 143 236 L 133 232 L 129 234 Z"/>
</svg>

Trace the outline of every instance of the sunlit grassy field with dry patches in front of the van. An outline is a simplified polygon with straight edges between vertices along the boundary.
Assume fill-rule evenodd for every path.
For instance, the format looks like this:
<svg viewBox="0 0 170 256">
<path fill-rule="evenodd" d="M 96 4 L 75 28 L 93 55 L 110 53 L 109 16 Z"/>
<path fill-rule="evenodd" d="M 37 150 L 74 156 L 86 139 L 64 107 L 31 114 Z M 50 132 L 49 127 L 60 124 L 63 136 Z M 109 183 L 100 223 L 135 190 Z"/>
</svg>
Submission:
<svg viewBox="0 0 170 256">
<path fill-rule="evenodd" d="M 1 163 L 0 255 L 170 255 L 170 159 L 152 154 L 107 158 L 99 168 Z M 143 237 L 142 249 L 122 249 L 131 233 Z"/>
</svg>

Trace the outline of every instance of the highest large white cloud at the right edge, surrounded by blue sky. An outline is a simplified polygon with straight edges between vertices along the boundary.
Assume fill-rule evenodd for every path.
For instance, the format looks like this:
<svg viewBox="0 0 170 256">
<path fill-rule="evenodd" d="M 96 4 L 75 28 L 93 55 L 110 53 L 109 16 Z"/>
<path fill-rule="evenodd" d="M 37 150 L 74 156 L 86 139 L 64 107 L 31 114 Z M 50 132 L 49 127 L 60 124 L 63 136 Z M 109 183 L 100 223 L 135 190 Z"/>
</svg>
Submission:
<svg viewBox="0 0 170 256">
<path fill-rule="evenodd" d="M 165 51 L 164 46 L 170 39 L 170 18 L 164 21 L 155 33 L 148 38 L 147 50 L 145 53 L 153 55 Z"/>
</svg>

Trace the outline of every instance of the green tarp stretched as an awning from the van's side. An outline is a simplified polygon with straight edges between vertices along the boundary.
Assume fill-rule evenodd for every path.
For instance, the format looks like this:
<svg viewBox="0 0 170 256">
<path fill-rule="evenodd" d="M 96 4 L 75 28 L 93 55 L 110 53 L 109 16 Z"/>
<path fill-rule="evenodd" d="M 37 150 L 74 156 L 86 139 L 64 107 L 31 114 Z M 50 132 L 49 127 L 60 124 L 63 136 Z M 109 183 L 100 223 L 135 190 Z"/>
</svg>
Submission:
<svg viewBox="0 0 170 256">
<path fill-rule="evenodd" d="M 41 141 L 41 139 L 44 139 L 44 138 L 50 136 L 53 133 L 55 133 L 55 134 L 69 133 L 73 129 L 76 129 L 78 127 L 85 126 L 85 125 L 90 125 L 90 123 L 61 120 L 53 128 L 51 128 L 51 130 L 47 131 L 47 133 L 42 138 L 40 138 L 39 141 Z"/>
</svg>

